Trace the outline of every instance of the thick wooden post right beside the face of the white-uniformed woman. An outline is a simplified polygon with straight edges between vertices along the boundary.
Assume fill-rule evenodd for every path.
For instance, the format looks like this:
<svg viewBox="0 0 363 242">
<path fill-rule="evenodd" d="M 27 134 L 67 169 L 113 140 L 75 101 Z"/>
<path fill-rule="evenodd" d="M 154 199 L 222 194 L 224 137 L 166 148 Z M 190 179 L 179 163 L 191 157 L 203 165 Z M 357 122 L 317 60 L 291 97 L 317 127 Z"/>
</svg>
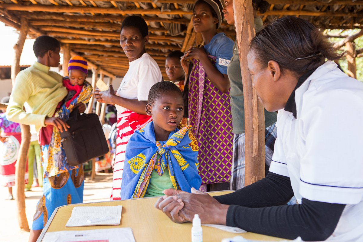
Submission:
<svg viewBox="0 0 363 242">
<path fill-rule="evenodd" d="M 245 105 L 245 186 L 265 177 L 265 114 L 247 66 L 249 43 L 255 35 L 252 0 L 234 0 L 234 26 L 240 55 Z"/>
</svg>

